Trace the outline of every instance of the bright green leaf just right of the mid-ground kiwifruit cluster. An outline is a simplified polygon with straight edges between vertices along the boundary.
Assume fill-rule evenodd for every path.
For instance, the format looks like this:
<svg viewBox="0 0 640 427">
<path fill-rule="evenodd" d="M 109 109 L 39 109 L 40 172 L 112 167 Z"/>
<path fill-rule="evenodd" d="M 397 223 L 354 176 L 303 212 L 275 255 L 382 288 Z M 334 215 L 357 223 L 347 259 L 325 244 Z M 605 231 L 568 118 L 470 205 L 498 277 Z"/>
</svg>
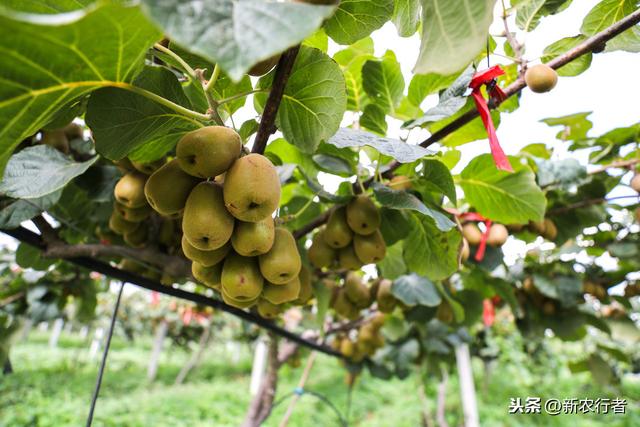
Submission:
<svg viewBox="0 0 640 427">
<path fill-rule="evenodd" d="M 404 260 L 409 271 L 442 280 L 458 270 L 460 232 L 440 231 L 428 216 L 411 215 L 411 233 L 404 240 Z"/>
</svg>

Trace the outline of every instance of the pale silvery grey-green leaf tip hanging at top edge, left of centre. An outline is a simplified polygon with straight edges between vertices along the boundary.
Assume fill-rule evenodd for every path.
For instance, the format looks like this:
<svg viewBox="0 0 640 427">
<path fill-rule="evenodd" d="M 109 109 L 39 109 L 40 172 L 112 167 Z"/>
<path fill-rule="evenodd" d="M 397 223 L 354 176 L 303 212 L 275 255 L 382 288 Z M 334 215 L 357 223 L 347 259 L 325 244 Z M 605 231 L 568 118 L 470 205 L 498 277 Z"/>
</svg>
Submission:
<svg viewBox="0 0 640 427">
<path fill-rule="evenodd" d="M 173 41 L 217 63 L 233 79 L 302 42 L 334 6 L 235 0 L 143 0 L 144 11 Z"/>
</svg>

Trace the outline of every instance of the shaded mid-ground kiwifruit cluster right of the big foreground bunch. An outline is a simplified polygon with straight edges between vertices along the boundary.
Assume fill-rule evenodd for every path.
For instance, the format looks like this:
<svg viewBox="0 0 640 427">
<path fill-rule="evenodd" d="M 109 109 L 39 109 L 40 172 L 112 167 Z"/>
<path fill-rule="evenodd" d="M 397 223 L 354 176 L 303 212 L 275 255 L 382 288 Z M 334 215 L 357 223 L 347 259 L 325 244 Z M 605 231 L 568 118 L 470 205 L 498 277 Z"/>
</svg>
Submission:
<svg viewBox="0 0 640 427">
<path fill-rule="evenodd" d="M 327 225 L 313 237 L 308 256 L 316 268 L 357 270 L 380 262 L 387 247 L 380 233 L 380 211 L 365 195 L 331 212 Z"/>
</svg>

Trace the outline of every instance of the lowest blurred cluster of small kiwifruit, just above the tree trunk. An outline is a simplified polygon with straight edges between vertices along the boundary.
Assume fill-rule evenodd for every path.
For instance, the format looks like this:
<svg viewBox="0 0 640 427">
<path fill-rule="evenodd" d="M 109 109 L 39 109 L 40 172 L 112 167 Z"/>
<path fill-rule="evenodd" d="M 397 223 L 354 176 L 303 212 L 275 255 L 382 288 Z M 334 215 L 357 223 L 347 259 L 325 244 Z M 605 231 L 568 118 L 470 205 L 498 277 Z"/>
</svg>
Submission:
<svg viewBox="0 0 640 427">
<path fill-rule="evenodd" d="M 383 324 L 384 314 L 378 313 L 361 324 L 357 334 L 351 331 L 350 335 L 336 335 L 331 346 L 351 361 L 361 362 L 384 346 L 384 337 L 380 332 Z"/>
</svg>

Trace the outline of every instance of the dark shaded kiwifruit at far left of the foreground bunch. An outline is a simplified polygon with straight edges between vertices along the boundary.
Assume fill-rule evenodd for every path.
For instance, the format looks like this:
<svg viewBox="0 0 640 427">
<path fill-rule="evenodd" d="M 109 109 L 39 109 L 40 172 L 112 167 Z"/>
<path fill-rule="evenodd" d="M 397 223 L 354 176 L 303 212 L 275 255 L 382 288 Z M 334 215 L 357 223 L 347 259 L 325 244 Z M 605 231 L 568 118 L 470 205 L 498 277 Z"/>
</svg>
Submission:
<svg viewBox="0 0 640 427">
<path fill-rule="evenodd" d="M 144 194 L 156 212 L 166 216 L 176 215 L 184 209 L 191 190 L 199 182 L 199 179 L 184 173 L 174 159 L 149 177 Z"/>
</svg>

